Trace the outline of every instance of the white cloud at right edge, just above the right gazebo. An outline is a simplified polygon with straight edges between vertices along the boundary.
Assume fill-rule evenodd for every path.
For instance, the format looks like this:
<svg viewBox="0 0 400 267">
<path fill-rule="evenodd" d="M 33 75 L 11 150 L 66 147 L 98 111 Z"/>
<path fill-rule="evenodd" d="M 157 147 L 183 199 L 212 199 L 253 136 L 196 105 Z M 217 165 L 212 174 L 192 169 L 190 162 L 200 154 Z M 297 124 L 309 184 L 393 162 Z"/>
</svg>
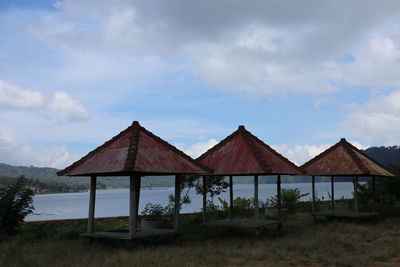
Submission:
<svg viewBox="0 0 400 267">
<path fill-rule="evenodd" d="M 400 90 L 349 107 L 344 123 L 355 136 L 372 145 L 393 145 L 400 142 Z"/>
</svg>

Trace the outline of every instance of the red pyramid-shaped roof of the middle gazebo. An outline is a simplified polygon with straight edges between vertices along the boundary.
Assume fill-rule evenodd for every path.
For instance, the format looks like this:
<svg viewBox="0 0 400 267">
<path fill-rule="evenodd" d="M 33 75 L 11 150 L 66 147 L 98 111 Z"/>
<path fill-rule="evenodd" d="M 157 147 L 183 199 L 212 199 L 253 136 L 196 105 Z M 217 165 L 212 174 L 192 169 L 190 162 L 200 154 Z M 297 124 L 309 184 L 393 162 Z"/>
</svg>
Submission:
<svg viewBox="0 0 400 267">
<path fill-rule="evenodd" d="M 244 126 L 196 159 L 215 175 L 302 174 L 300 169 Z"/>
</svg>

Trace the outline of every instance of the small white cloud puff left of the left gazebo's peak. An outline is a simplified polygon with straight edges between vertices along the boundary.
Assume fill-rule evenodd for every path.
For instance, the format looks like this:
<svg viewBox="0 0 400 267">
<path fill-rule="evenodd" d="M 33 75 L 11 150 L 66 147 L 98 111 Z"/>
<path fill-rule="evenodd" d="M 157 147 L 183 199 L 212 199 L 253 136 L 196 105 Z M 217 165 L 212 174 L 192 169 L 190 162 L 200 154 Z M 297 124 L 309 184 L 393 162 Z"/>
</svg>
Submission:
<svg viewBox="0 0 400 267">
<path fill-rule="evenodd" d="M 66 92 L 56 92 L 49 105 L 50 110 L 69 120 L 86 120 L 89 118 L 88 110 Z"/>
</svg>

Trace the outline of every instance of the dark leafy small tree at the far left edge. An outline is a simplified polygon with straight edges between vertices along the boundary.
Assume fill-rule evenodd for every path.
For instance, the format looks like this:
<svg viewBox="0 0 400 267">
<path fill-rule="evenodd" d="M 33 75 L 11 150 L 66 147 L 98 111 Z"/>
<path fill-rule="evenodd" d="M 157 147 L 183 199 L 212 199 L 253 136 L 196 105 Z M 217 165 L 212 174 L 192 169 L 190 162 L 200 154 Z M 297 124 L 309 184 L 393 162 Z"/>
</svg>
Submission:
<svg viewBox="0 0 400 267">
<path fill-rule="evenodd" d="M 33 211 L 33 194 L 23 176 L 13 185 L 0 187 L 0 233 L 17 233 L 25 216 Z"/>
</svg>

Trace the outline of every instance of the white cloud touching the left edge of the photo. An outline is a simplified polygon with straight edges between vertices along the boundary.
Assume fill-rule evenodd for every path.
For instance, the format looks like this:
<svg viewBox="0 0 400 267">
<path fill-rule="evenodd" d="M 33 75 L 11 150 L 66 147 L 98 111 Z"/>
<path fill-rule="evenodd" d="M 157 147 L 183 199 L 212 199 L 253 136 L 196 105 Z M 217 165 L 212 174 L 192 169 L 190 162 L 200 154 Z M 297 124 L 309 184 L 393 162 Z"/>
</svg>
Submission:
<svg viewBox="0 0 400 267">
<path fill-rule="evenodd" d="M 43 95 L 0 80 L 0 108 L 40 109 L 44 106 Z"/>
</svg>

